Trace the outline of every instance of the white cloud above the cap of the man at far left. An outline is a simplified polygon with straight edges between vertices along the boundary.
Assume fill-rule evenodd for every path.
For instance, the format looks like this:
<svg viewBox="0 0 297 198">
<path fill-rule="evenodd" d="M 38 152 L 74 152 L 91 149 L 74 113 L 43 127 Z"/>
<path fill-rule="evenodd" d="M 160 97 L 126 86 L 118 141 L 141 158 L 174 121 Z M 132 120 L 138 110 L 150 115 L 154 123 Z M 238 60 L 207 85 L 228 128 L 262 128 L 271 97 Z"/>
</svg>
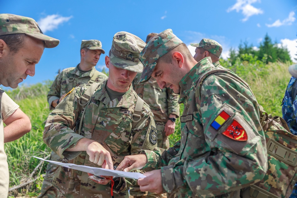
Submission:
<svg viewBox="0 0 297 198">
<path fill-rule="evenodd" d="M 61 23 L 67 22 L 71 18 L 72 16 L 62 17 L 60 15 L 48 15 L 45 18 L 40 19 L 37 23 L 43 33 L 45 33 L 46 31 L 53 31 L 58 28 Z"/>
</svg>

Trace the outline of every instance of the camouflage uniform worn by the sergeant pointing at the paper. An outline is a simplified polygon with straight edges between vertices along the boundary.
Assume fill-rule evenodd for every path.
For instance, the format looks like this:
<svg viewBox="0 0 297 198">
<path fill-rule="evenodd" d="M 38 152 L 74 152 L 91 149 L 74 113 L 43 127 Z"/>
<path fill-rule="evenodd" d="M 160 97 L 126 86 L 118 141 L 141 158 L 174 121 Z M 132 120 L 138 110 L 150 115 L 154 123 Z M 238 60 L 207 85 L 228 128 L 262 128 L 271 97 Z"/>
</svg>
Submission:
<svg viewBox="0 0 297 198">
<path fill-rule="evenodd" d="M 82 116 L 78 99 L 89 85 L 80 85 L 68 94 L 55 110 L 48 116 L 43 134 L 43 141 L 61 158 L 69 163 L 99 167 L 89 161 L 86 151 L 66 152 L 75 146 L 81 138 L 95 140 L 110 152 L 114 165 L 117 166 L 124 156 L 137 154 L 141 149 L 152 150 L 156 144 L 151 142 L 150 132 L 155 130 L 153 114 L 144 103 L 141 120 L 132 129 L 131 115 L 134 112 L 137 94 L 130 86 L 129 90 L 119 98 L 110 101 L 106 91 L 105 80 L 92 95 L 91 104 L 86 106 L 82 130 L 78 133 L 78 125 Z M 76 131 L 72 129 L 76 127 Z M 109 185 L 94 183 L 86 172 L 75 171 L 75 188 L 69 189 L 71 170 L 60 167 L 53 178 L 53 186 L 58 195 L 66 197 L 110 197 Z M 136 180 L 119 178 L 113 186 L 114 197 L 128 197 L 128 188 L 135 185 Z"/>
</svg>

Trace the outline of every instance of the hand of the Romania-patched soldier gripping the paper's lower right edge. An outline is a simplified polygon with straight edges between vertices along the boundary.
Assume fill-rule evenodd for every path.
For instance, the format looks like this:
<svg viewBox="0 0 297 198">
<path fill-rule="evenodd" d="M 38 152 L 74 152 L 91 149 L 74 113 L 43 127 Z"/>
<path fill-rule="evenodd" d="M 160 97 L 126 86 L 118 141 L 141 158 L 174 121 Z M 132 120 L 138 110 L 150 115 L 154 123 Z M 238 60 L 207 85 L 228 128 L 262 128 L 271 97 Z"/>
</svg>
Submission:
<svg viewBox="0 0 297 198">
<path fill-rule="evenodd" d="M 137 181 L 141 191 L 155 192 L 157 194 L 163 193 L 161 170 L 145 172 L 143 175 L 146 178 L 140 178 Z"/>
</svg>

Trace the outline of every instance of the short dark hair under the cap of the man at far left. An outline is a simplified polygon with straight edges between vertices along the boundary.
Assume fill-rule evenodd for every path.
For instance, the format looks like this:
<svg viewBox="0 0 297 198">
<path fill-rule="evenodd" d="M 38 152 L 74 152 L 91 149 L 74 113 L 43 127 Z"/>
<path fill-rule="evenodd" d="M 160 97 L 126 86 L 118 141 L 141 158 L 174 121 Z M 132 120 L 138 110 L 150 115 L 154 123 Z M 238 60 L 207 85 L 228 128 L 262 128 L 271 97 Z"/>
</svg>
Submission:
<svg viewBox="0 0 297 198">
<path fill-rule="evenodd" d="M 23 47 L 25 37 L 26 34 L 7 34 L 1 35 L 0 39 L 4 40 L 12 53 L 17 53 Z"/>
</svg>

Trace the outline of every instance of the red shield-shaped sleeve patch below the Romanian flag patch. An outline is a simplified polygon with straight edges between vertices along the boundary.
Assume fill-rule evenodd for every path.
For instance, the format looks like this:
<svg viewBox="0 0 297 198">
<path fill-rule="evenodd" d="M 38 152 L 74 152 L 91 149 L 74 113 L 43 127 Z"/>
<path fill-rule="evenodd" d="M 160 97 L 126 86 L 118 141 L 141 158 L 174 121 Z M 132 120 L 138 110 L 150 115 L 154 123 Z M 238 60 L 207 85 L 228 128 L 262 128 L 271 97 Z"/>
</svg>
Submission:
<svg viewBox="0 0 297 198">
<path fill-rule="evenodd" d="M 247 132 L 236 120 L 228 126 L 223 135 L 237 141 L 247 141 Z"/>
</svg>

